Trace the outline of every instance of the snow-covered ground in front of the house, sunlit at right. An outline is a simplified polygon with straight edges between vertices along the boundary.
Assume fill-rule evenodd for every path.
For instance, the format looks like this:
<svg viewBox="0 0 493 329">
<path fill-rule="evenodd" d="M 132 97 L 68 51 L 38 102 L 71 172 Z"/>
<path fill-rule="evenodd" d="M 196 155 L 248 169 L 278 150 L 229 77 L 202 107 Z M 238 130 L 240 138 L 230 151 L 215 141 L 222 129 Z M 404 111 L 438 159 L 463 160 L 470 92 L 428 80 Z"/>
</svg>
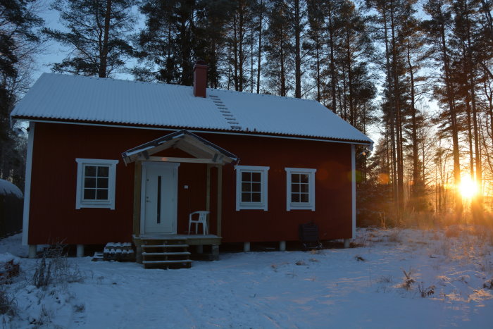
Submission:
<svg viewBox="0 0 493 329">
<path fill-rule="evenodd" d="M 6 328 L 492 328 L 484 232 L 358 230 L 362 247 L 220 254 L 180 270 L 68 259 L 83 280 L 46 290 L 21 258 Z M 0 253 L 25 257 L 20 236 Z M 406 272 L 406 273 L 404 273 Z M 406 277 L 408 276 L 408 278 Z M 425 297 L 421 297 L 421 292 Z"/>
</svg>

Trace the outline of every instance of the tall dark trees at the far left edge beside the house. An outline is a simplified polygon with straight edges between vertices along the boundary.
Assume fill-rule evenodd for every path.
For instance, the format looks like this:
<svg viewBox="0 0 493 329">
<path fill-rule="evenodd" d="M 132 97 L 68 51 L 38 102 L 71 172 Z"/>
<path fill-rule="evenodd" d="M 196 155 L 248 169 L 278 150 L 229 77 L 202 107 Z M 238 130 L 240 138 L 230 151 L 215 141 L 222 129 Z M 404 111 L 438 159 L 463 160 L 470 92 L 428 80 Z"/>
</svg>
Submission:
<svg viewBox="0 0 493 329">
<path fill-rule="evenodd" d="M 9 114 L 30 85 L 34 56 L 42 41 L 36 29 L 43 21 L 35 1 L 0 1 L 0 178 L 24 187 L 25 140 L 10 129 Z"/>
</svg>

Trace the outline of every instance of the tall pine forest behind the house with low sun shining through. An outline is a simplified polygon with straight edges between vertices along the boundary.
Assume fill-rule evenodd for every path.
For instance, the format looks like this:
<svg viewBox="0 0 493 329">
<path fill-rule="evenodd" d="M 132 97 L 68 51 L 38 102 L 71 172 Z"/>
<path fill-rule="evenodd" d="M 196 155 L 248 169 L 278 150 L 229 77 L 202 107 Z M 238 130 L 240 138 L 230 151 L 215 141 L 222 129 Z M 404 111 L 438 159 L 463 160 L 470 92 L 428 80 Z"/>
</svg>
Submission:
<svg viewBox="0 0 493 329">
<path fill-rule="evenodd" d="M 493 209 L 492 0 L 0 0 L 0 178 L 24 185 L 9 113 L 48 44 L 56 73 L 316 99 L 369 135 L 358 221 Z M 56 11 L 59 27 L 42 13 Z M 16 133 L 17 132 L 17 133 Z M 386 219 L 387 218 L 387 219 Z"/>
</svg>

